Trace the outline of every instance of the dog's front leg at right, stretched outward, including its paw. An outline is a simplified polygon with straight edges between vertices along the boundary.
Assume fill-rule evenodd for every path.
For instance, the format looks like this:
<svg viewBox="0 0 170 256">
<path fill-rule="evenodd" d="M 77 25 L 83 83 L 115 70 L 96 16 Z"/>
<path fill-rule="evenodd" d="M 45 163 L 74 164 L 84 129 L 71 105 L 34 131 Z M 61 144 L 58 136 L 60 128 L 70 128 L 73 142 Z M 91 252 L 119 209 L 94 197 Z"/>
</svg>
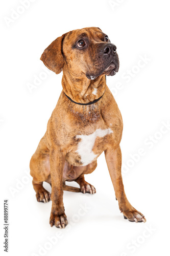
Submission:
<svg viewBox="0 0 170 256">
<path fill-rule="evenodd" d="M 110 177 L 113 183 L 116 199 L 118 200 L 119 209 L 123 212 L 125 219 L 135 222 L 145 222 L 144 216 L 141 212 L 137 211 L 128 201 L 124 184 L 122 180 L 121 167 L 122 167 L 122 153 L 120 146 L 113 149 L 107 148 L 105 151 L 107 166 L 109 169 Z"/>
</svg>

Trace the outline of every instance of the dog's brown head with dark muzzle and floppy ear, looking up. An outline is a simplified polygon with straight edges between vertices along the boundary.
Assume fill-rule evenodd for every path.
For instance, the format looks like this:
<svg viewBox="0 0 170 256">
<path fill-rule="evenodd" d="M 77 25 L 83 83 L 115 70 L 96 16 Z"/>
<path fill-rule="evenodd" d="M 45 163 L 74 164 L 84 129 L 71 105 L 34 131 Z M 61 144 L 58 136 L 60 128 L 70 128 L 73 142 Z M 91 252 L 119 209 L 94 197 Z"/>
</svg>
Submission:
<svg viewBox="0 0 170 256">
<path fill-rule="evenodd" d="M 56 74 L 63 70 L 92 80 L 101 75 L 113 76 L 119 68 L 116 46 L 95 27 L 63 34 L 44 50 L 40 59 Z"/>
</svg>

